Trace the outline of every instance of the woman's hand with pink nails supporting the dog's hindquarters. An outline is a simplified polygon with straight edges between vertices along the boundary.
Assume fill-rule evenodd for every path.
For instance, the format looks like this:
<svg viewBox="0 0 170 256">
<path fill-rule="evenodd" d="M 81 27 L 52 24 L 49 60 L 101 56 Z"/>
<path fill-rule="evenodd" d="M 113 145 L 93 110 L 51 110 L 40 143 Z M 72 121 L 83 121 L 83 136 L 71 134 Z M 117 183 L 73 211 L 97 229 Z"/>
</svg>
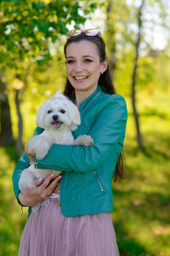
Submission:
<svg viewBox="0 0 170 256">
<path fill-rule="evenodd" d="M 48 186 L 53 176 L 54 176 L 54 173 L 51 175 L 48 175 L 46 180 L 37 189 L 33 190 L 33 189 L 26 188 L 24 190 L 24 193 L 20 192 L 18 195 L 20 203 L 23 206 L 29 207 L 44 201 L 55 190 L 57 183 L 61 178 L 61 175 L 56 177 Z M 35 180 L 34 185 L 38 186 L 40 185 L 41 182 L 42 182 L 42 179 Z"/>
</svg>

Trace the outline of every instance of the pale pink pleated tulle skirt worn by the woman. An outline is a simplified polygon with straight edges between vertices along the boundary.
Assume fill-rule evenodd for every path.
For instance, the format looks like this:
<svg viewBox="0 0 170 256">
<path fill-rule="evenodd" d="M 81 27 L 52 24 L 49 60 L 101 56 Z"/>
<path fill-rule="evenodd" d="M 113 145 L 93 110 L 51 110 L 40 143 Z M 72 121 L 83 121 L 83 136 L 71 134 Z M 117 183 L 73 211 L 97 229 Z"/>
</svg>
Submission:
<svg viewBox="0 0 170 256">
<path fill-rule="evenodd" d="M 119 256 L 110 212 L 65 217 L 57 198 L 31 212 L 18 256 Z"/>
</svg>

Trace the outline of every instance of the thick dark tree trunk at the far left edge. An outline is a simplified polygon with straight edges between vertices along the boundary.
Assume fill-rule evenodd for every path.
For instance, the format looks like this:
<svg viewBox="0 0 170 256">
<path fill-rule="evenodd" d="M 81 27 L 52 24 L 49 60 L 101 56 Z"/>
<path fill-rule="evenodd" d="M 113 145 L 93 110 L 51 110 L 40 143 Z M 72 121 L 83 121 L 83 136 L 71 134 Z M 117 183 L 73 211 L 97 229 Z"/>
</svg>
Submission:
<svg viewBox="0 0 170 256">
<path fill-rule="evenodd" d="M 6 83 L 1 81 L 4 76 L 0 73 L 0 146 L 14 144 L 12 135 L 10 108 L 7 96 Z"/>
</svg>

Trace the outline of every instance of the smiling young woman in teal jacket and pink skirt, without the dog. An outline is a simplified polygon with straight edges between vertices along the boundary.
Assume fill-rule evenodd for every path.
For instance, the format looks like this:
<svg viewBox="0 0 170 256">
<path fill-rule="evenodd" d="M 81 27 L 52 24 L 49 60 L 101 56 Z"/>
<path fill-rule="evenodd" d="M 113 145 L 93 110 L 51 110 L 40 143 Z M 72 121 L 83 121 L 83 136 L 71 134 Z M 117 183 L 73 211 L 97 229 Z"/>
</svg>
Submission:
<svg viewBox="0 0 170 256">
<path fill-rule="evenodd" d="M 115 94 L 105 44 L 97 29 L 67 33 L 64 46 L 67 82 L 64 94 L 79 109 L 81 125 L 74 138 L 88 134 L 94 146 L 52 145 L 37 168 L 62 171 L 50 185 L 48 177 L 37 189 L 19 191 L 19 174 L 28 168 L 24 153 L 13 174 L 14 193 L 21 206 L 43 201 L 48 207 L 30 213 L 20 242 L 19 256 L 119 256 L 110 212 L 112 180 L 123 179 L 121 151 L 125 139 L 127 107 Z M 36 134 L 42 129 L 37 127 Z M 34 152 L 33 152 L 34 153 Z M 34 156 L 34 154 L 33 154 Z M 36 181 L 36 186 L 41 180 Z M 57 198 L 58 197 L 58 198 Z"/>
</svg>

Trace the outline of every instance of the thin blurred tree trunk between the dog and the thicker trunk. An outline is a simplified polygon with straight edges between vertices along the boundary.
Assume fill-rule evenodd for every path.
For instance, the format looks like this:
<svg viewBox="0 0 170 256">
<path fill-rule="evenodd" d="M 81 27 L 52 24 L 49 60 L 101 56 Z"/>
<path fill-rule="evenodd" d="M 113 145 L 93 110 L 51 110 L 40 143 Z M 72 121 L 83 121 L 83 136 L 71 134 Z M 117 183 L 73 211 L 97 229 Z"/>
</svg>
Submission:
<svg viewBox="0 0 170 256">
<path fill-rule="evenodd" d="M 20 75 L 17 75 L 16 78 L 20 79 Z M 22 137 L 23 137 L 23 118 L 20 112 L 20 103 L 21 100 L 19 99 L 19 93 L 20 90 L 15 90 L 15 103 L 17 107 L 17 115 L 18 115 L 18 139 L 16 143 L 16 148 L 17 148 L 17 154 L 20 156 L 23 151 L 23 143 L 22 143 Z"/>
</svg>

